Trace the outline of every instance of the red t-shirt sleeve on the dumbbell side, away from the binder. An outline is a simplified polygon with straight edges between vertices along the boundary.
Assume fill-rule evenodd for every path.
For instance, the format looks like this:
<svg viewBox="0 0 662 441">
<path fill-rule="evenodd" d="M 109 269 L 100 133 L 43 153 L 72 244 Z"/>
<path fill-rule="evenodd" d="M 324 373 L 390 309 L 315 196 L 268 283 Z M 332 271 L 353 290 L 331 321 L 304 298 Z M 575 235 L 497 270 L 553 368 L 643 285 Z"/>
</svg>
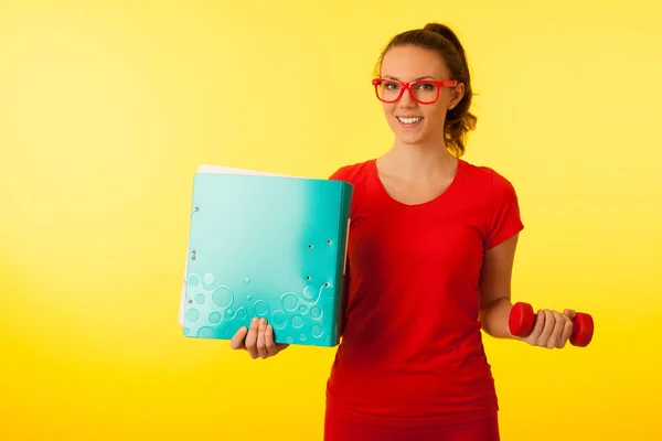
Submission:
<svg viewBox="0 0 662 441">
<path fill-rule="evenodd" d="M 515 189 L 510 181 L 496 172 L 493 172 L 492 175 L 489 207 L 485 250 L 495 247 L 524 228 Z"/>
</svg>

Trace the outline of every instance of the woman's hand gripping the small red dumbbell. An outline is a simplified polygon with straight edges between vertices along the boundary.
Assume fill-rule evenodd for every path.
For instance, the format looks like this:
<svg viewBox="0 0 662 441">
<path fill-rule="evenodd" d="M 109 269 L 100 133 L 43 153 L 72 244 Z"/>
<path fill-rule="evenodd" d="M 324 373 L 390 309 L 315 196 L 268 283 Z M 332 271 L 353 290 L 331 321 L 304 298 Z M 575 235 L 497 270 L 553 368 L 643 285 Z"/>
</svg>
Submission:
<svg viewBox="0 0 662 441">
<path fill-rule="evenodd" d="M 573 333 L 573 319 L 577 312 L 564 310 L 563 313 L 551 310 L 540 310 L 535 318 L 533 331 L 526 337 L 521 337 L 532 346 L 553 349 L 562 348 L 568 342 Z"/>
</svg>

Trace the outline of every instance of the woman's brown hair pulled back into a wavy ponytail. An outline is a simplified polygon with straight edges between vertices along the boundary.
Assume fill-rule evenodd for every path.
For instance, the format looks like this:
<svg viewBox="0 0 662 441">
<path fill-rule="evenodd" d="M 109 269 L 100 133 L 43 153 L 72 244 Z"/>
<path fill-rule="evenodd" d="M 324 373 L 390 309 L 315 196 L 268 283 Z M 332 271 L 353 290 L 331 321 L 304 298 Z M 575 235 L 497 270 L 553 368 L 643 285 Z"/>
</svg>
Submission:
<svg viewBox="0 0 662 441">
<path fill-rule="evenodd" d="M 456 157 L 461 157 L 465 153 L 467 133 L 476 129 L 477 122 L 477 117 L 469 111 L 473 92 L 465 49 L 450 28 L 445 24 L 428 23 L 423 29 L 397 34 L 388 42 L 376 65 L 377 76 L 380 76 L 382 61 L 388 50 L 406 45 L 436 51 L 446 62 L 446 66 L 450 71 L 450 79 L 457 79 L 458 83 L 465 84 L 465 96 L 456 107 L 448 111 L 444 126 L 446 147 Z"/>
</svg>

